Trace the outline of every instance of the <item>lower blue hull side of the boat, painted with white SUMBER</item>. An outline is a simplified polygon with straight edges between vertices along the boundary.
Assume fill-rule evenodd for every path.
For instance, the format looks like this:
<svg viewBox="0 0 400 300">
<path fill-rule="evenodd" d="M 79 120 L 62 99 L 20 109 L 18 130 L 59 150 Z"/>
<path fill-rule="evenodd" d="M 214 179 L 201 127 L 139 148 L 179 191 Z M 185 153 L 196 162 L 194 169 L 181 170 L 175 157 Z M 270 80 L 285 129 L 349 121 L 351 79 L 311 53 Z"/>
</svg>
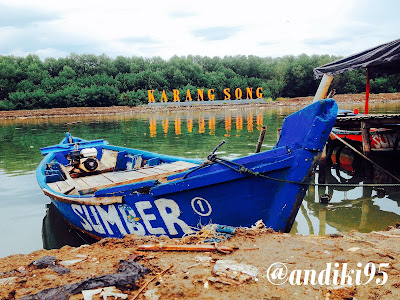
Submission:
<svg viewBox="0 0 400 300">
<path fill-rule="evenodd" d="M 290 172 L 295 165 L 282 164 L 280 171 L 269 176 L 278 178 L 282 176 L 278 173 Z M 294 221 L 290 218 L 296 215 L 305 192 L 304 185 L 250 175 L 158 197 L 126 194 L 123 203 L 66 203 L 56 196 L 53 203 L 73 225 L 94 236 L 181 237 L 210 223 L 236 227 L 251 226 L 258 220 L 275 230 L 289 231 Z"/>
</svg>

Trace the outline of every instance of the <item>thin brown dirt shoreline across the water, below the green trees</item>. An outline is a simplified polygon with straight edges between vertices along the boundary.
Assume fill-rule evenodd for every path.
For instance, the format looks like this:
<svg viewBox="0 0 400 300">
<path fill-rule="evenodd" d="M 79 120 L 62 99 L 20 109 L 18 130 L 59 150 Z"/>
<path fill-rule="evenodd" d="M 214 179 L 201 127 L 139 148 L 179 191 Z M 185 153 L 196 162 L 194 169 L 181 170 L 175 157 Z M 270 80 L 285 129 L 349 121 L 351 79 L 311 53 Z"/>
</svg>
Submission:
<svg viewBox="0 0 400 300">
<path fill-rule="evenodd" d="M 46 118 L 46 117 L 60 117 L 60 116 L 102 116 L 102 115 L 118 115 L 118 114 L 131 114 L 143 112 L 176 112 L 187 110 L 217 110 L 221 108 L 240 107 L 240 108 L 257 108 L 257 107 L 285 107 L 285 106 L 299 106 L 303 107 L 312 103 L 313 96 L 309 97 L 296 97 L 290 99 L 283 99 L 274 102 L 265 103 L 251 103 L 251 104 L 218 104 L 218 105 L 201 105 L 197 101 L 193 101 L 193 105 L 173 105 L 170 106 L 112 106 L 112 107 L 68 107 L 68 108 L 51 108 L 51 109 L 36 109 L 36 110 L 13 110 L 13 111 L 0 111 L 0 119 L 26 119 L 26 118 Z M 337 103 L 340 104 L 353 104 L 357 108 L 364 107 L 365 95 L 364 94 L 343 94 L 335 95 L 333 97 Z M 226 101 L 228 102 L 228 100 Z M 369 102 L 373 103 L 400 103 L 399 93 L 382 93 L 370 94 Z M 361 111 L 361 110 L 360 110 Z"/>
</svg>

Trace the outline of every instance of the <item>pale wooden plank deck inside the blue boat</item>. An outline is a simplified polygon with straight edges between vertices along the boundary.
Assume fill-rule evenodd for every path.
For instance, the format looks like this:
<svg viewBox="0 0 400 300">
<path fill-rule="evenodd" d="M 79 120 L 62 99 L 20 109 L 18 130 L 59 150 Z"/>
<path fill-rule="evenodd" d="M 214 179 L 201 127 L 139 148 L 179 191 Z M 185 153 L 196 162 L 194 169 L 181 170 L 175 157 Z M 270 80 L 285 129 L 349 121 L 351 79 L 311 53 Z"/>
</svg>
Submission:
<svg viewBox="0 0 400 300">
<path fill-rule="evenodd" d="M 168 176 L 197 166 L 197 164 L 190 162 L 176 161 L 137 170 L 101 173 L 80 178 L 71 178 L 68 171 L 62 166 L 67 179 L 48 183 L 47 185 L 52 190 L 62 194 L 86 195 L 93 194 L 100 189 L 140 181 L 157 179 L 165 182 Z"/>
</svg>

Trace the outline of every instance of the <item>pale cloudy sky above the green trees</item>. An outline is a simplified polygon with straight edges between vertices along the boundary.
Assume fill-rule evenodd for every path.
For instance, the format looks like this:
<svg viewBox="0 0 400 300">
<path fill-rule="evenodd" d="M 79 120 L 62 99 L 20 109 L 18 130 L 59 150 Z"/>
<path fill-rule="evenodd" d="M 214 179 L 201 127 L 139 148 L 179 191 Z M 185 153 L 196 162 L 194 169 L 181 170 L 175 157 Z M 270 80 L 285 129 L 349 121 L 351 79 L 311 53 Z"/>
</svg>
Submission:
<svg viewBox="0 0 400 300">
<path fill-rule="evenodd" d="M 398 0 L 0 0 L 0 55 L 347 56 L 400 38 Z"/>
</svg>

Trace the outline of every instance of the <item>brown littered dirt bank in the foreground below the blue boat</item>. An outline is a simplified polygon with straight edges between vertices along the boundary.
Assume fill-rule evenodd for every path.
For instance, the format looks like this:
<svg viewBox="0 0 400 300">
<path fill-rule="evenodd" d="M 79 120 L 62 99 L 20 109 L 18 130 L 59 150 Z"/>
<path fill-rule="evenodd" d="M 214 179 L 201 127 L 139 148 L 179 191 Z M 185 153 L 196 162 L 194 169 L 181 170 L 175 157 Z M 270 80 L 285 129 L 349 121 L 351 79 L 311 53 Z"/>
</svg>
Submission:
<svg viewBox="0 0 400 300">
<path fill-rule="evenodd" d="M 218 244 L 204 243 L 212 237 L 215 233 L 206 227 L 182 239 L 129 235 L 79 248 L 8 256 L 0 259 L 0 299 L 103 299 L 100 293 L 107 291 L 114 295 L 107 299 L 400 299 L 396 227 L 320 237 L 276 233 L 261 223 L 238 228 Z M 214 251 L 139 250 L 140 245 L 154 244 L 164 249 L 206 245 Z M 49 256 L 52 264 L 39 264 Z M 75 286 L 85 289 L 90 278 L 100 282 L 115 274 L 121 261 L 139 263 L 148 273 L 128 284 L 114 281 L 111 292 L 100 283 L 93 298 L 84 298 L 78 289 L 74 295 L 60 294 L 60 288 L 46 291 L 68 291 L 82 281 Z"/>
</svg>

